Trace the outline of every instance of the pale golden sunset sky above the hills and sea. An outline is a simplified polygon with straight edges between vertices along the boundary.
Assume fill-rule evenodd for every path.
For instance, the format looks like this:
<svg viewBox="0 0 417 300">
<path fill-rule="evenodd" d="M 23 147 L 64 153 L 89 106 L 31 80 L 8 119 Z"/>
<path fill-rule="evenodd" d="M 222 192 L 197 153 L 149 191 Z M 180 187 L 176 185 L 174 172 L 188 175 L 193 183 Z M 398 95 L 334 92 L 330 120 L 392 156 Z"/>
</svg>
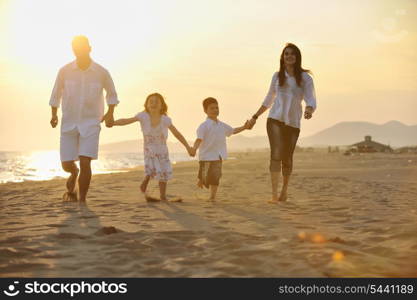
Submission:
<svg viewBox="0 0 417 300">
<path fill-rule="evenodd" d="M 159 92 L 188 140 L 209 96 L 222 121 L 243 125 L 287 42 L 301 49 L 316 88 L 317 111 L 302 120 L 301 137 L 343 121 L 417 124 L 417 1 L 0 0 L 0 151 L 58 148 L 48 102 L 79 34 L 113 77 L 116 118 Z M 242 134 L 266 136 L 266 117 Z M 100 143 L 137 138 L 138 123 L 103 126 Z"/>
</svg>

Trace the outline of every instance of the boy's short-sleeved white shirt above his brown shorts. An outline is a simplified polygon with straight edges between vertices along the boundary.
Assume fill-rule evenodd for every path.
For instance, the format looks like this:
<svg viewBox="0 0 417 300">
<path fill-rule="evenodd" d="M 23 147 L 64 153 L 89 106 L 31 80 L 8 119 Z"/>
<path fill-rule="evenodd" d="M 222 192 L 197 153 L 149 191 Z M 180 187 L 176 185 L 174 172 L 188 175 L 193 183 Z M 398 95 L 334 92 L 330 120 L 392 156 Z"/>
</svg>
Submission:
<svg viewBox="0 0 417 300">
<path fill-rule="evenodd" d="M 198 159 L 204 161 L 227 159 L 226 137 L 233 134 L 233 127 L 217 120 L 207 118 L 197 129 L 197 138 L 202 142 Z"/>
</svg>

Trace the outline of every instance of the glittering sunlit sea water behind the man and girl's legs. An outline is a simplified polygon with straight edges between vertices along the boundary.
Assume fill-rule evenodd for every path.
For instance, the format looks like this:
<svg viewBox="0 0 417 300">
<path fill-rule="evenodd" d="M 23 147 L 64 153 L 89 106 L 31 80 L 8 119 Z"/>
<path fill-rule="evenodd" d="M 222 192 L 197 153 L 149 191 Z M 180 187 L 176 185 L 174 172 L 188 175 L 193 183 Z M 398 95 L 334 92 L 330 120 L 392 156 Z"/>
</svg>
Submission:
<svg viewBox="0 0 417 300">
<path fill-rule="evenodd" d="M 170 153 L 172 163 L 192 160 L 186 153 Z M 93 160 L 93 174 L 126 172 L 143 165 L 143 154 L 100 152 Z M 58 151 L 3 152 L 0 151 L 0 183 L 49 180 L 68 177 L 61 168 Z"/>
</svg>

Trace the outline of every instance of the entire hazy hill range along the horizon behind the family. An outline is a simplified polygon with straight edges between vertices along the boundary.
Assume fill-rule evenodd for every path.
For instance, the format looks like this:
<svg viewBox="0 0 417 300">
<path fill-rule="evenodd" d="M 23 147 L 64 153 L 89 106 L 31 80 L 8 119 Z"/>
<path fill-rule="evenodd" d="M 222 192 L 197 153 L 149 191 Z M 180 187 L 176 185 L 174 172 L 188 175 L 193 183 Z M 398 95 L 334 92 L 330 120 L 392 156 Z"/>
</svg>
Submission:
<svg viewBox="0 0 417 300">
<path fill-rule="evenodd" d="M 368 122 L 341 122 L 312 136 L 300 138 L 298 145 L 302 147 L 351 145 L 364 140 L 365 135 L 370 135 L 372 140 L 392 147 L 417 145 L 417 125 L 408 126 L 398 121 L 390 121 L 382 125 Z M 189 141 L 189 143 L 192 145 L 193 142 Z M 184 147 L 178 142 L 168 142 L 168 148 L 173 153 L 185 152 Z M 234 135 L 227 139 L 227 148 L 229 151 L 269 148 L 268 137 Z M 136 152 L 142 149 L 142 140 L 100 145 L 100 150 L 111 152 Z"/>
</svg>

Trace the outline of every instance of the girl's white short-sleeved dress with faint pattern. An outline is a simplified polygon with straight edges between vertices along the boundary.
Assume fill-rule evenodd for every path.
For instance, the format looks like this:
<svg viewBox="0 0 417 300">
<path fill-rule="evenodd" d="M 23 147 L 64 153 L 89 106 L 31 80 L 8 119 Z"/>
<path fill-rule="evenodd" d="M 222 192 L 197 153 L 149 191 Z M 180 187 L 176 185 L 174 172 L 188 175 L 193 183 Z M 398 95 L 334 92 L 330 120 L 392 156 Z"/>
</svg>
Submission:
<svg viewBox="0 0 417 300">
<path fill-rule="evenodd" d="M 143 133 L 143 152 L 145 157 L 145 174 L 159 181 L 168 181 L 172 178 L 172 167 L 167 147 L 168 127 L 172 121 L 166 115 L 156 127 L 151 125 L 151 117 L 146 112 L 136 115 Z"/>
</svg>

